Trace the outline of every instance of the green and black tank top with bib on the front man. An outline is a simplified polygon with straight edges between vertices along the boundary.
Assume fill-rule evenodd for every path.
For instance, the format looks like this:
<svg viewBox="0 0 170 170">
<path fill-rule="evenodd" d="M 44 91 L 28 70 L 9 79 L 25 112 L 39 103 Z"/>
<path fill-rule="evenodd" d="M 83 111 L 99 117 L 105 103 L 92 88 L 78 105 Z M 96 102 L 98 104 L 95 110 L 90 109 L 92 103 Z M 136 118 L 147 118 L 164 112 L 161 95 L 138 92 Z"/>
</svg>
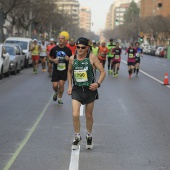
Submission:
<svg viewBox="0 0 170 170">
<path fill-rule="evenodd" d="M 73 84 L 76 86 L 90 86 L 94 82 L 95 74 L 89 54 L 81 61 L 75 55 L 73 60 Z"/>
</svg>

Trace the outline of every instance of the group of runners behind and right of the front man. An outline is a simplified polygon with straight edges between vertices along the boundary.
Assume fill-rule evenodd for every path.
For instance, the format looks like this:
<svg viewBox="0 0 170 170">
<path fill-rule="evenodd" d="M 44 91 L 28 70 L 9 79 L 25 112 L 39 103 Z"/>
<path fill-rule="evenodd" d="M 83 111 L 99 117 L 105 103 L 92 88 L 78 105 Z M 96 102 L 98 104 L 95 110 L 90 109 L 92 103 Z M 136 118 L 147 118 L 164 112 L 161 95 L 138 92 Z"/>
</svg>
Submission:
<svg viewBox="0 0 170 170">
<path fill-rule="evenodd" d="M 140 57 L 143 56 L 143 50 L 139 46 L 139 42 L 136 42 L 135 46 L 133 43 L 130 43 L 125 52 L 125 54 L 128 54 L 127 65 L 129 78 L 132 77 L 132 73 L 136 73 L 136 76 L 138 76 L 139 73 Z M 92 53 L 99 58 L 104 68 L 107 59 L 108 74 L 113 75 L 113 77 L 118 77 L 122 54 L 122 49 L 119 46 L 119 42 L 115 43 L 113 38 L 110 38 L 107 45 L 105 42 L 102 42 L 99 47 L 96 47 L 96 43 L 94 42 Z"/>
</svg>

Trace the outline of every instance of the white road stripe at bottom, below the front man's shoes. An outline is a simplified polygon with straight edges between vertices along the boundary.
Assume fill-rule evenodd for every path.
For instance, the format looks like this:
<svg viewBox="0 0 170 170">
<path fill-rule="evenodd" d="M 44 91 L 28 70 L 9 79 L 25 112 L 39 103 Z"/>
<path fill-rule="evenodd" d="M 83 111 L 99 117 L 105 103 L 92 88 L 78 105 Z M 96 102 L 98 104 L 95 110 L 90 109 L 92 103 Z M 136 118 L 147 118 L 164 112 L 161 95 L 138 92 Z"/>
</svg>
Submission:
<svg viewBox="0 0 170 170">
<path fill-rule="evenodd" d="M 80 155 L 80 146 L 77 150 L 72 150 L 70 158 L 69 170 L 78 170 L 79 168 L 79 155 Z"/>
</svg>

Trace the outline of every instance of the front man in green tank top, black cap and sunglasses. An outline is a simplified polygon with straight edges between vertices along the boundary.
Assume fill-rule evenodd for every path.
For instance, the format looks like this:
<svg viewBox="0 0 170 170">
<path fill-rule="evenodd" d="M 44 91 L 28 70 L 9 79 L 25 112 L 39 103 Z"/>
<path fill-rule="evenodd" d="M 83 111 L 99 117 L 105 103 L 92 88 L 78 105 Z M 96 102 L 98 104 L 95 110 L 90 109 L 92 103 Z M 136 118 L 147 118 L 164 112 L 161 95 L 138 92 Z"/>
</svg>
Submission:
<svg viewBox="0 0 170 170">
<path fill-rule="evenodd" d="M 105 77 L 105 70 L 99 59 L 92 53 L 88 53 L 88 39 L 77 40 L 77 54 L 70 57 L 68 67 L 68 94 L 72 95 L 73 125 L 75 138 L 72 149 L 78 149 L 80 136 L 80 106 L 85 104 L 86 114 L 86 149 L 93 148 L 92 127 L 94 101 L 98 98 L 97 88 L 100 87 Z M 98 81 L 95 81 L 94 69 L 100 71 Z M 73 83 L 73 87 L 72 87 Z"/>
</svg>

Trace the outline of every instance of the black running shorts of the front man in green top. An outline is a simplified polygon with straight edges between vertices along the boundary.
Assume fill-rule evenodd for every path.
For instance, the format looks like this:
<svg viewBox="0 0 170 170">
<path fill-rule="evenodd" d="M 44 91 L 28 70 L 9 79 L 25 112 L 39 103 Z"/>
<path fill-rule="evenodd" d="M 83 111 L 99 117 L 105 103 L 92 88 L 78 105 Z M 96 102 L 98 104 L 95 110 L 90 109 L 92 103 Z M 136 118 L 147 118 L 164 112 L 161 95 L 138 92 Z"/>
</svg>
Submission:
<svg viewBox="0 0 170 170">
<path fill-rule="evenodd" d="M 81 104 L 89 104 L 98 99 L 97 90 L 89 90 L 89 87 L 73 86 L 72 99 L 79 101 Z"/>
</svg>

